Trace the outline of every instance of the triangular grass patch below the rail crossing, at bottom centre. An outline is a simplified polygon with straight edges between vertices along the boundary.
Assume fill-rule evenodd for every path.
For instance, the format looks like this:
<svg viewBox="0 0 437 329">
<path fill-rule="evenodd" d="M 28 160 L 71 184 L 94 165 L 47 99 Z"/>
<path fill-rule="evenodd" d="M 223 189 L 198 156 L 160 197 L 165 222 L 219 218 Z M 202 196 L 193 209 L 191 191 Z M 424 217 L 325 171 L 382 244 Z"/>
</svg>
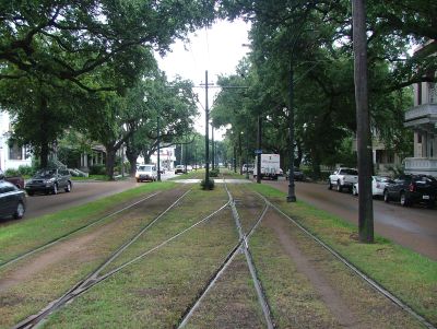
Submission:
<svg viewBox="0 0 437 329">
<path fill-rule="evenodd" d="M 186 328 L 267 328 L 244 254 L 233 259 Z"/>
</svg>

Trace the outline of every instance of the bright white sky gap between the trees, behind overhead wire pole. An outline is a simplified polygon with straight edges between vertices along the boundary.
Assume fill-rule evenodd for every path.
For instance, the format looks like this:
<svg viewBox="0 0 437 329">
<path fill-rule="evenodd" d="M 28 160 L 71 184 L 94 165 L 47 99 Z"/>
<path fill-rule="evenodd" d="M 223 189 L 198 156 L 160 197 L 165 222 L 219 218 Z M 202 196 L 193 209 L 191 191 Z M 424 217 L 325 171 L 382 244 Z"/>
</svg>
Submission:
<svg viewBox="0 0 437 329">
<path fill-rule="evenodd" d="M 238 61 L 247 54 L 248 48 L 243 44 L 248 44 L 249 28 L 249 24 L 243 21 L 233 23 L 220 21 L 208 30 L 199 30 L 189 35 L 189 43 L 177 42 L 172 46 L 172 52 L 164 58 L 156 56 L 160 68 L 166 72 L 168 80 L 180 75 L 191 80 L 197 86 L 205 82 L 205 70 L 208 70 L 209 84 L 216 83 L 217 75 L 234 73 Z M 204 107 L 204 89 L 197 87 L 194 91 Z M 210 108 L 218 91 L 218 89 L 209 90 Z M 204 109 L 199 106 L 199 111 L 201 116 L 197 119 L 196 128 L 204 134 Z M 222 139 L 222 133 L 216 131 L 214 138 Z"/>
</svg>

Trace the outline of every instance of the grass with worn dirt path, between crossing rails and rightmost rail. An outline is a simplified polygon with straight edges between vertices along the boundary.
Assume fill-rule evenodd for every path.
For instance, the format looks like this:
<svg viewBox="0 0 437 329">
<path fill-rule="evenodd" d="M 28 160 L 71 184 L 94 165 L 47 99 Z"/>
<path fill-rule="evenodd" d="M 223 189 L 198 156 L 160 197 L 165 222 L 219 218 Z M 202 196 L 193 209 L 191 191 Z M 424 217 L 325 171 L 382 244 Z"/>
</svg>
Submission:
<svg viewBox="0 0 437 329">
<path fill-rule="evenodd" d="M 421 328 L 410 314 L 377 293 L 282 214 L 270 210 L 267 219 L 250 245 L 260 277 L 267 278 L 262 282 L 267 282 L 269 299 L 275 303 L 272 308 L 277 322 L 297 328 Z M 259 238 L 263 232 L 269 236 Z M 270 259 L 277 256 L 288 260 L 272 266 Z M 314 309 L 323 309 L 321 304 L 324 312 L 314 316 Z"/>
</svg>

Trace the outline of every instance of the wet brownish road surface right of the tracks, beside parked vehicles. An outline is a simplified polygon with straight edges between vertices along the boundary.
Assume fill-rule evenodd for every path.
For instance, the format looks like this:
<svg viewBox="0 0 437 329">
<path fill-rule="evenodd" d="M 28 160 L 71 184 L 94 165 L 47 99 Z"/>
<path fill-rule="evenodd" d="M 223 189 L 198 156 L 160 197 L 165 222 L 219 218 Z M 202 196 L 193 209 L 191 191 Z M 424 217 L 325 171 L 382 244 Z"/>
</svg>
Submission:
<svg viewBox="0 0 437 329">
<path fill-rule="evenodd" d="M 262 180 L 287 192 L 288 181 Z M 347 192 L 328 190 L 324 184 L 296 181 L 296 198 L 358 224 L 358 198 Z M 437 210 L 411 208 L 374 200 L 376 234 L 437 260 Z"/>
</svg>

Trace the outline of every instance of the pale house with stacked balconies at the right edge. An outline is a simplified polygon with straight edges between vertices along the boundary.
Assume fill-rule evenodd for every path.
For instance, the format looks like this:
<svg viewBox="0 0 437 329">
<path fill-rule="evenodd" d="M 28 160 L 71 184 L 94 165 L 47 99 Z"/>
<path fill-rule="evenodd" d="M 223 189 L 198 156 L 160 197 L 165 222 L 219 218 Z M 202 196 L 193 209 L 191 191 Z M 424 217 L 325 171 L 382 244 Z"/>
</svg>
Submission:
<svg viewBox="0 0 437 329">
<path fill-rule="evenodd" d="M 414 131 L 414 156 L 404 158 L 405 173 L 437 177 L 436 83 L 421 82 L 414 85 L 414 107 L 405 113 L 404 127 Z"/>
</svg>

